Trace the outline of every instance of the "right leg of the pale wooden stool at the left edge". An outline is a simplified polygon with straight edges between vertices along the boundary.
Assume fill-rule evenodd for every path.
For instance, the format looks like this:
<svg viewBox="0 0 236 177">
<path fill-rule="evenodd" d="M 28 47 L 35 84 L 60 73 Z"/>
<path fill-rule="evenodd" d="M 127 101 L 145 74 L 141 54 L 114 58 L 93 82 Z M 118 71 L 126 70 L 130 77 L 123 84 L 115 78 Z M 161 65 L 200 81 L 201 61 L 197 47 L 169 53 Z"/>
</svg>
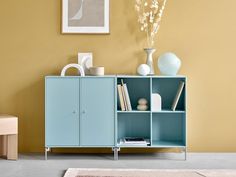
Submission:
<svg viewBox="0 0 236 177">
<path fill-rule="evenodd" d="M 7 138 L 7 159 L 17 160 L 18 158 L 18 137 L 17 135 L 8 135 Z"/>
</svg>

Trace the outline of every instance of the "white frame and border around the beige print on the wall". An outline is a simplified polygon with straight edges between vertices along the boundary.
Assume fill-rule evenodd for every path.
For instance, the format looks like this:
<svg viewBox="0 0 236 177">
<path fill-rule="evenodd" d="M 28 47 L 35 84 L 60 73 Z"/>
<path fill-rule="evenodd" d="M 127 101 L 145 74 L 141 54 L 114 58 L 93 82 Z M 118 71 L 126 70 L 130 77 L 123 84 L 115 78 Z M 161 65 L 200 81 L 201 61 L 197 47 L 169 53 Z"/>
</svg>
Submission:
<svg viewBox="0 0 236 177">
<path fill-rule="evenodd" d="M 79 34 L 109 34 L 110 33 L 110 29 L 109 29 L 109 0 L 93 0 L 93 1 L 104 1 L 104 19 L 102 18 L 102 26 L 72 26 L 70 25 L 70 21 L 74 20 L 73 18 L 69 19 L 69 2 L 71 0 L 62 0 L 62 33 L 66 34 L 66 33 L 79 33 Z M 86 2 L 89 0 L 78 0 L 78 2 L 81 2 L 82 5 L 81 7 L 83 7 L 83 2 Z M 91 2 L 90 2 L 91 3 Z M 81 20 L 81 18 L 86 18 L 86 17 L 81 17 L 81 10 L 78 9 L 78 13 L 79 14 L 79 18 L 80 19 L 75 19 L 75 20 Z M 86 10 L 82 11 L 82 12 L 86 12 Z M 75 15 L 76 16 L 76 15 Z M 103 21 L 104 20 L 104 21 Z"/>
</svg>

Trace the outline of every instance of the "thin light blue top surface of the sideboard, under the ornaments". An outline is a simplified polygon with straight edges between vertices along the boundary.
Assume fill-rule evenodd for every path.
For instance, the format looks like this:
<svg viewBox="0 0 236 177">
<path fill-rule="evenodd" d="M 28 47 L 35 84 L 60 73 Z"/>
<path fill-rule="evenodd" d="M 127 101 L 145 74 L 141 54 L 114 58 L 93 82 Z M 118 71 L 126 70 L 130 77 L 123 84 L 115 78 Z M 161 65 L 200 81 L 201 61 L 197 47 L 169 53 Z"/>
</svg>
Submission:
<svg viewBox="0 0 236 177">
<path fill-rule="evenodd" d="M 46 78 L 186 78 L 183 75 L 177 76 L 162 76 L 162 75 L 152 75 L 152 76 L 139 76 L 139 75 L 104 75 L 104 76 L 46 76 Z"/>
</svg>

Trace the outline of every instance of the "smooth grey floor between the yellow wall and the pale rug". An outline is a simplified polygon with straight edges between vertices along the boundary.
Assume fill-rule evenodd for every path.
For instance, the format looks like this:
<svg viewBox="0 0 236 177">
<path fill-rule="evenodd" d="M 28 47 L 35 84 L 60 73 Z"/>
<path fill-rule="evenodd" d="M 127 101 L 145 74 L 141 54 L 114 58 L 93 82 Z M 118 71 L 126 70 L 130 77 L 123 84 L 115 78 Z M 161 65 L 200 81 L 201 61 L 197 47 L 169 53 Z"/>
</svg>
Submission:
<svg viewBox="0 0 236 177">
<path fill-rule="evenodd" d="M 236 153 L 121 154 L 21 154 L 18 161 L 0 159 L 0 177 L 62 177 L 68 168 L 128 169 L 236 169 Z"/>
</svg>

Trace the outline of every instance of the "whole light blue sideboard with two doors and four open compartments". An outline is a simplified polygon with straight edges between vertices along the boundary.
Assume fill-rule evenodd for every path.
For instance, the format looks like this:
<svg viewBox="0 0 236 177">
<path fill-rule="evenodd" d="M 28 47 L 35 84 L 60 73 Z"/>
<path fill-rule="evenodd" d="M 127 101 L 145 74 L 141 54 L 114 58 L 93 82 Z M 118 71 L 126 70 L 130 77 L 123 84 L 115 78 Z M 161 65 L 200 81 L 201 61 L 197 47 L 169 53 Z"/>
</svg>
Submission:
<svg viewBox="0 0 236 177">
<path fill-rule="evenodd" d="M 45 147 L 111 147 L 124 137 L 150 140 L 145 148 L 183 148 L 186 152 L 186 86 L 176 111 L 171 106 L 184 76 L 46 77 Z M 121 111 L 117 84 L 127 84 L 133 111 Z M 152 112 L 151 95 L 162 97 Z M 140 98 L 147 111 L 138 111 Z M 126 146 L 127 147 L 127 146 Z M 134 146 L 132 146 L 134 147 Z M 186 153 L 185 153 L 186 154 Z"/>
</svg>

